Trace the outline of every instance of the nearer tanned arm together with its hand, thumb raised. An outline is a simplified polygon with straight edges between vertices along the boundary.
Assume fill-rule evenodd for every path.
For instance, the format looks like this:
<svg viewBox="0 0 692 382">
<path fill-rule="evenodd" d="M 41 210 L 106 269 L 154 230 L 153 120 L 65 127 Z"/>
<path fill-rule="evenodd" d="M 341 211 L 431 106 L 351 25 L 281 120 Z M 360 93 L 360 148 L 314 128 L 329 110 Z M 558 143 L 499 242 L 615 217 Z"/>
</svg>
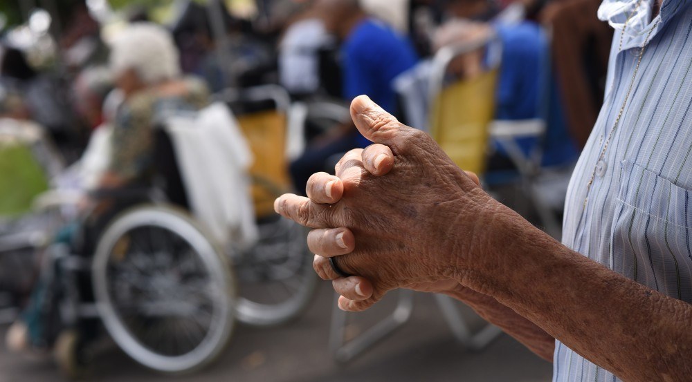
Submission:
<svg viewBox="0 0 692 382">
<path fill-rule="evenodd" d="M 283 195 L 275 203 L 282 215 L 316 229 L 309 240 L 345 244 L 338 262 L 361 276 L 364 296 L 344 297 L 340 307 L 366 309 L 392 289 L 451 279 L 495 298 L 623 380 L 689 379 L 692 305 L 536 229 L 480 189 L 429 135 L 403 126 L 367 97 L 354 100 L 352 117 L 365 137 L 391 149 L 390 173 L 372 175 L 365 155 L 345 158 L 339 180 L 322 184 L 338 202 Z"/>
</svg>

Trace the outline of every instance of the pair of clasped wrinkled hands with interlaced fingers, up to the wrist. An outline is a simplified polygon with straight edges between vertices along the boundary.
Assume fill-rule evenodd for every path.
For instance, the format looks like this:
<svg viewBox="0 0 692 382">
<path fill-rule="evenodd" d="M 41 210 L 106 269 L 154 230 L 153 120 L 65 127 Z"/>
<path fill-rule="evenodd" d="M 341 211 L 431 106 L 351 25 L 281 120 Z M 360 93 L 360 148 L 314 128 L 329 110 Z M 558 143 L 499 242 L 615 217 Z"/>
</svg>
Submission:
<svg viewBox="0 0 692 382">
<path fill-rule="evenodd" d="M 313 228 L 308 245 L 318 255 L 316 271 L 336 279 L 342 309 L 367 309 L 399 287 L 439 292 L 457 285 L 491 198 L 429 135 L 367 97 L 354 99 L 351 114 L 375 144 L 349 151 L 336 176 L 313 175 L 308 198 L 282 195 L 275 209 Z M 334 274 L 325 259 L 334 256 L 358 276 Z"/>
</svg>

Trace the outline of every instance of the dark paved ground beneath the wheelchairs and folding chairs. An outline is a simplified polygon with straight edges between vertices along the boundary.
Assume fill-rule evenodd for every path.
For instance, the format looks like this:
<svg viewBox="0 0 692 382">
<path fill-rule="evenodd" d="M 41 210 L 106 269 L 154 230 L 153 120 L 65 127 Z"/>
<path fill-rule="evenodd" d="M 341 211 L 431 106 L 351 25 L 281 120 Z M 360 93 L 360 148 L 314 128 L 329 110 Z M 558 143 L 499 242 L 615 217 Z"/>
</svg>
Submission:
<svg viewBox="0 0 692 382">
<path fill-rule="evenodd" d="M 552 365 L 502 335 L 483 352 L 467 352 L 450 335 L 431 296 L 416 298 L 411 321 L 347 365 L 335 363 L 327 348 L 333 294 L 321 283 L 316 298 L 297 321 L 282 327 L 237 327 L 217 363 L 175 381 L 323 382 L 323 381 L 550 381 Z M 391 303 L 391 300 L 390 300 Z M 363 329 L 379 311 L 356 317 L 351 332 Z M 5 328 L 0 327 L 0 340 Z M 2 342 L 4 343 L 4 341 Z M 0 346 L 0 382 L 61 381 L 50 360 L 8 354 Z M 89 381 L 167 381 L 138 366 L 113 345 L 95 354 Z"/>
</svg>

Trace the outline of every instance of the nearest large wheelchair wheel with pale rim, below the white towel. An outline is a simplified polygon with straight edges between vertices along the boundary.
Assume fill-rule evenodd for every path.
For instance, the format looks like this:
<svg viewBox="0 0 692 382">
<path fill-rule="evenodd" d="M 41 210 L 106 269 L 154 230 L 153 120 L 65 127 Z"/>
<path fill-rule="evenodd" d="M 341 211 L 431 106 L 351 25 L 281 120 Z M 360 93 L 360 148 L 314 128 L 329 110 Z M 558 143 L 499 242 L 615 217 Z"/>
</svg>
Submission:
<svg viewBox="0 0 692 382">
<path fill-rule="evenodd" d="M 235 284 L 212 243 L 168 207 L 136 207 L 102 233 L 92 269 L 96 305 L 113 340 L 138 363 L 182 374 L 224 349 Z"/>
</svg>

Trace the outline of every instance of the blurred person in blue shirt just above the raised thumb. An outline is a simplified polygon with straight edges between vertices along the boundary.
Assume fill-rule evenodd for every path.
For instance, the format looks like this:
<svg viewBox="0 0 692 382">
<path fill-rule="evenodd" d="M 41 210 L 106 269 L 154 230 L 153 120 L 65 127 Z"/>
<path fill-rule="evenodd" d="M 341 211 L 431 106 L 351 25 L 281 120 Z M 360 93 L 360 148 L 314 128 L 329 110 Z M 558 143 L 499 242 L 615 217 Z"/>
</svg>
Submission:
<svg viewBox="0 0 692 382">
<path fill-rule="evenodd" d="M 315 7 L 325 28 L 342 41 L 343 98 L 350 102 L 365 94 L 386 111 L 396 113 L 392 82 L 418 60 L 410 41 L 383 21 L 369 17 L 358 0 L 318 0 Z M 368 144 L 350 121 L 311 142 L 291 163 L 296 191 L 304 192 L 310 175 L 324 171 L 332 155 Z"/>
</svg>

